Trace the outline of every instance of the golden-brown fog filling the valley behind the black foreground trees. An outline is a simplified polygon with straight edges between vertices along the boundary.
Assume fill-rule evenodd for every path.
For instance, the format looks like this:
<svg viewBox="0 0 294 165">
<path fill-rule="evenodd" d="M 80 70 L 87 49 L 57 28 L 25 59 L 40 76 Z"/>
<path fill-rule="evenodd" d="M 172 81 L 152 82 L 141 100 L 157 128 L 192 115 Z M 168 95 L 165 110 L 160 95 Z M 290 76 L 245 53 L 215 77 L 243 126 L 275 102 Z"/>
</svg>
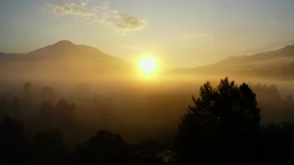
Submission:
<svg viewBox="0 0 294 165">
<path fill-rule="evenodd" d="M 28 137 L 39 130 L 57 127 L 70 148 L 86 141 L 100 129 L 117 132 L 128 143 L 152 138 L 170 145 L 181 117 L 187 112 L 188 105 L 193 105 L 191 95 L 197 98 L 203 83 L 210 81 L 216 86 L 224 77 L 208 78 L 159 73 L 153 77 L 92 78 L 92 81 L 89 78 L 70 81 L 6 80 L 0 82 L 0 117 L 3 119 L 9 115 L 23 122 Z M 294 84 L 291 81 L 258 78 L 249 81 L 236 76 L 229 79 L 238 85 L 248 83 L 257 94 L 261 125 L 294 118 Z M 15 96 L 18 107 L 13 105 L 16 104 Z M 42 115 L 42 104 L 55 106 L 61 99 L 75 105 L 70 126 L 64 126 L 63 121 L 56 124 L 55 120 Z"/>
</svg>

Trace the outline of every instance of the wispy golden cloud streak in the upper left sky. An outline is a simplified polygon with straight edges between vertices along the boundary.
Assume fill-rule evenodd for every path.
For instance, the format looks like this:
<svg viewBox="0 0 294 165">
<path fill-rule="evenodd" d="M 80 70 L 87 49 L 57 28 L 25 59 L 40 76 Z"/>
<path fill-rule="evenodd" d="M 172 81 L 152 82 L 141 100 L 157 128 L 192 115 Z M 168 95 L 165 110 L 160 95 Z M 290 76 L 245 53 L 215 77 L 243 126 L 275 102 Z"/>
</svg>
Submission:
<svg viewBox="0 0 294 165">
<path fill-rule="evenodd" d="M 56 17 L 73 16 L 73 20 L 89 23 L 106 24 L 116 31 L 126 34 L 126 32 L 137 31 L 144 28 L 147 23 L 137 16 L 126 14 L 120 9 L 111 9 L 109 2 L 100 2 L 98 5 L 89 7 L 88 1 L 49 3 L 45 6 L 37 6 L 41 11 L 53 13 Z M 81 23 L 76 23 L 80 25 Z"/>
</svg>

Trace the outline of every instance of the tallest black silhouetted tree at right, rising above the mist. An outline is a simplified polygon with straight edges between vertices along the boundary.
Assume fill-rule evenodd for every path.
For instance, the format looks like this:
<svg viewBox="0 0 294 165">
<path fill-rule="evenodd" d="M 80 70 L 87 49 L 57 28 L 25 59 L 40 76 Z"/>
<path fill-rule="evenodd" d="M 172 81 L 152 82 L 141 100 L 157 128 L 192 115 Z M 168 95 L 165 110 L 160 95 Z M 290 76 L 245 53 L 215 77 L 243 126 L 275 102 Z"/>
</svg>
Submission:
<svg viewBox="0 0 294 165">
<path fill-rule="evenodd" d="M 214 161 L 208 155 L 220 161 L 223 154 L 232 155 L 233 150 L 239 150 L 234 146 L 250 143 L 249 135 L 259 130 L 256 94 L 246 83 L 237 86 L 226 77 L 214 88 L 206 82 L 200 87 L 198 98 L 192 95 L 192 101 L 194 106 L 188 106 L 177 136 L 182 164 Z"/>
</svg>

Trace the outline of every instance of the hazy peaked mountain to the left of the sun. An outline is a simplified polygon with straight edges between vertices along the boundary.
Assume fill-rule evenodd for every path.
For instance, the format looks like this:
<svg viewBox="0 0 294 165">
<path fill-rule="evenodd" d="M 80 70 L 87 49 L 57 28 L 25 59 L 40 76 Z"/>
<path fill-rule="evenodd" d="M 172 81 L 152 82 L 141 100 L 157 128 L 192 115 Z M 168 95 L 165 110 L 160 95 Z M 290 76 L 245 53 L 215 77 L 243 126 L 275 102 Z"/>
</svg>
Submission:
<svg viewBox="0 0 294 165">
<path fill-rule="evenodd" d="M 130 70 L 132 66 L 120 58 L 67 40 L 29 53 L 0 52 L 0 75 L 5 78 L 94 78 L 122 76 Z"/>
</svg>

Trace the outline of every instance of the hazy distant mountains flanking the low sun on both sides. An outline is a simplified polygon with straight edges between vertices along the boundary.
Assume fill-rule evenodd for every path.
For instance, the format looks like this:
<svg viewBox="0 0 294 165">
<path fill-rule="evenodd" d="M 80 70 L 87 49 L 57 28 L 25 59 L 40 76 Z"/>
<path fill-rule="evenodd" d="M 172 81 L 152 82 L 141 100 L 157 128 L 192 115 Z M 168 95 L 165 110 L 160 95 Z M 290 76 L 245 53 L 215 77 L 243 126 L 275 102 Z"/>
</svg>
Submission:
<svg viewBox="0 0 294 165">
<path fill-rule="evenodd" d="M 110 56 L 99 49 L 59 41 L 29 53 L 0 52 L 0 76 L 16 79 L 127 77 L 137 69 L 122 59 Z M 169 75 L 186 76 L 240 76 L 294 80 L 294 44 L 275 51 L 251 56 L 232 56 L 216 64 L 197 68 L 176 68 Z"/>
</svg>

